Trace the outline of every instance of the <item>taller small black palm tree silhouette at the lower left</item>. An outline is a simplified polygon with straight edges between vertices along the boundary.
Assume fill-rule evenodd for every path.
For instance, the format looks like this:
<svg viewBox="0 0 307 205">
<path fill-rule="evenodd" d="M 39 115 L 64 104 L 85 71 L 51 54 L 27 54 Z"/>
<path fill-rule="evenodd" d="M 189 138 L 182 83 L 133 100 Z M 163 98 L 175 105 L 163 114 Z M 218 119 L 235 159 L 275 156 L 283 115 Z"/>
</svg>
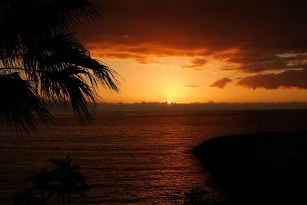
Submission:
<svg viewBox="0 0 307 205">
<path fill-rule="evenodd" d="M 57 184 L 51 187 L 50 192 L 62 196 L 63 205 L 65 204 L 65 194 L 68 196 L 68 205 L 70 205 L 72 193 L 90 191 L 90 186 L 86 184 L 84 175 L 77 172 L 80 167 L 78 165 L 71 166 L 72 157 L 70 155 L 65 160 L 50 159 L 50 161 L 56 166 L 53 172 L 57 180 Z"/>
</svg>

